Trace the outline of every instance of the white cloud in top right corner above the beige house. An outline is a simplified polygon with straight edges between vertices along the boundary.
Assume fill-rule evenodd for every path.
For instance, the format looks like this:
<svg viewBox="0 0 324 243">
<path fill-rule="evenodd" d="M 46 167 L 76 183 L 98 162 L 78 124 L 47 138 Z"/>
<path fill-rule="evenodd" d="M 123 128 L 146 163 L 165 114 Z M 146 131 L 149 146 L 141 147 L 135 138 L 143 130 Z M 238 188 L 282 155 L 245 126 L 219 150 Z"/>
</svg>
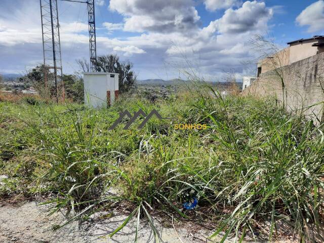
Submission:
<svg viewBox="0 0 324 243">
<path fill-rule="evenodd" d="M 296 21 L 300 26 L 309 26 L 308 32 L 324 30 L 324 1 L 319 0 L 308 6 Z"/>
</svg>

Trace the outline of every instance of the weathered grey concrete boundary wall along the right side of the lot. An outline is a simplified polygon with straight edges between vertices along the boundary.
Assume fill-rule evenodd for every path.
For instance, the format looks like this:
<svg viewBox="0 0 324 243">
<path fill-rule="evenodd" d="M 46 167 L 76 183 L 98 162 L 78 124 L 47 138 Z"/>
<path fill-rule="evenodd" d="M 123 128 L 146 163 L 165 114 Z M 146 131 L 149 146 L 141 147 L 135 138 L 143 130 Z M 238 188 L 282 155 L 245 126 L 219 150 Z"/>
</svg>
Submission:
<svg viewBox="0 0 324 243">
<path fill-rule="evenodd" d="M 288 109 L 301 110 L 314 105 L 303 112 L 310 118 L 315 119 L 317 116 L 324 121 L 322 103 L 324 101 L 322 90 L 322 87 L 324 89 L 324 53 L 263 73 L 242 94 L 259 97 L 276 96 L 282 101 L 286 95 L 282 94 L 280 76 L 283 77 L 287 90 L 285 100 Z M 315 105 L 318 102 L 321 103 Z"/>
</svg>

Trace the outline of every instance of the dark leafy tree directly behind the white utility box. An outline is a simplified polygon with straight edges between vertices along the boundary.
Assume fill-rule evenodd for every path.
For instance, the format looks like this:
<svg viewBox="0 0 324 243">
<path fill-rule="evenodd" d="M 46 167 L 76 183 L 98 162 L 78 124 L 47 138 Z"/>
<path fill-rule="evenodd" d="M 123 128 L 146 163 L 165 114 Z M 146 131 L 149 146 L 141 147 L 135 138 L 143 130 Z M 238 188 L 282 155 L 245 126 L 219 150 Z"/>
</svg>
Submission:
<svg viewBox="0 0 324 243">
<path fill-rule="evenodd" d="M 77 60 L 77 63 L 84 72 L 89 71 L 89 63 L 86 60 Z M 129 91 L 135 84 L 136 74 L 134 73 L 133 64 L 130 61 L 121 62 L 117 55 L 106 55 L 97 57 L 93 62 L 97 72 L 119 73 L 119 92 Z"/>
</svg>

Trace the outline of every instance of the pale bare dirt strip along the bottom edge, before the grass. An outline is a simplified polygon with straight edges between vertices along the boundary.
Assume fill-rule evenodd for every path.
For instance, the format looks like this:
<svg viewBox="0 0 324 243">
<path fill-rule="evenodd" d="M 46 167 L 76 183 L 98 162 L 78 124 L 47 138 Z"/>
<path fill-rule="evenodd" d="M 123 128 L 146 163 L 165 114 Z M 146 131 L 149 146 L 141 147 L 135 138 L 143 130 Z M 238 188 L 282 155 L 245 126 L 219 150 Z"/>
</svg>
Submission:
<svg viewBox="0 0 324 243">
<path fill-rule="evenodd" d="M 53 230 L 53 227 L 65 221 L 62 213 L 48 217 L 48 207 L 30 201 L 22 206 L 4 206 L 0 208 L 0 242 L 134 242 L 136 223 L 130 222 L 112 238 L 108 236 L 126 218 L 125 215 L 114 215 L 110 218 L 90 220 L 80 227 L 77 222 Z M 98 217 L 96 217 L 98 218 Z M 186 229 L 164 228 L 156 226 L 161 238 L 166 243 L 211 242 L 205 236 L 210 232 L 200 230 L 195 233 Z M 154 235 L 147 223 L 141 224 L 138 242 L 154 242 Z M 214 242 L 219 242 L 215 240 Z M 228 240 L 226 242 L 233 242 Z"/>
</svg>

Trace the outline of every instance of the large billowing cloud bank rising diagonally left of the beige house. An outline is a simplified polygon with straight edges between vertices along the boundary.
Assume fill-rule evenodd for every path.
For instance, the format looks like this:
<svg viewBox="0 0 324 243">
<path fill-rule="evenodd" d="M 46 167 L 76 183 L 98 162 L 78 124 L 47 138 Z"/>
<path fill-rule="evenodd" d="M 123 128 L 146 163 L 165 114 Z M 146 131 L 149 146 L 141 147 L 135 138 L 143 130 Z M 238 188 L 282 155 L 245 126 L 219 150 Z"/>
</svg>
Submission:
<svg viewBox="0 0 324 243">
<path fill-rule="evenodd" d="M 166 51 L 174 66 L 177 63 L 187 65 L 199 73 L 220 75 L 229 69 L 238 73 L 247 73 L 250 67 L 242 63 L 254 60 L 256 54 L 249 47 L 250 38 L 255 34 L 264 34 L 268 30 L 267 22 L 272 17 L 272 10 L 264 3 L 246 2 L 237 10 L 229 9 L 224 15 L 212 21 L 207 27 L 199 29 L 195 35 L 186 36 L 178 33 L 178 42 Z M 175 39 L 165 36 L 164 39 Z M 188 68 L 188 66 L 187 66 Z M 250 74 L 253 74 L 252 70 Z"/>
</svg>

